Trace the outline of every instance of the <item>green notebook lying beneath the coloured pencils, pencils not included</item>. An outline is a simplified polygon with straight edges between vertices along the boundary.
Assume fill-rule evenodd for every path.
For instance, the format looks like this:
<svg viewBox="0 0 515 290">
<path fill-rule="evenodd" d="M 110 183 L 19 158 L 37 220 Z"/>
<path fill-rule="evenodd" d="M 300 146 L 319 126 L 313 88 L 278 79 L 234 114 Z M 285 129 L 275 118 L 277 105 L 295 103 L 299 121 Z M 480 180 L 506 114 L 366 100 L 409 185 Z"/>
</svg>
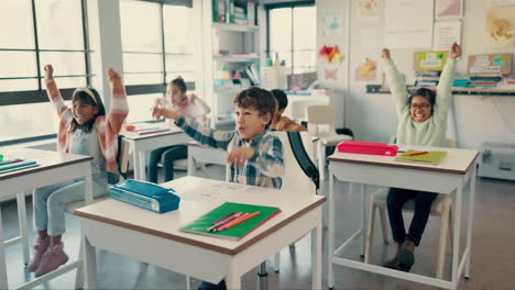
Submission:
<svg viewBox="0 0 515 290">
<path fill-rule="evenodd" d="M 260 214 L 230 228 L 226 228 L 220 232 L 207 231 L 207 228 L 210 227 L 212 223 L 219 221 L 220 219 L 227 216 L 230 213 L 254 213 L 256 211 L 259 211 Z M 226 202 L 222 205 L 216 208 L 215 210 L 198 217 L 197 220 L 195 220 L 195 222 L 180 227 L 180 231 L 209 236 L 219 236 L 238 241 L 248 235 L 250 232 L 258 228 L 260 225 L 267 222 L 270 219 L 277 215 L 278 213 L 281 213 L 280 208 Z"/>
</svg>

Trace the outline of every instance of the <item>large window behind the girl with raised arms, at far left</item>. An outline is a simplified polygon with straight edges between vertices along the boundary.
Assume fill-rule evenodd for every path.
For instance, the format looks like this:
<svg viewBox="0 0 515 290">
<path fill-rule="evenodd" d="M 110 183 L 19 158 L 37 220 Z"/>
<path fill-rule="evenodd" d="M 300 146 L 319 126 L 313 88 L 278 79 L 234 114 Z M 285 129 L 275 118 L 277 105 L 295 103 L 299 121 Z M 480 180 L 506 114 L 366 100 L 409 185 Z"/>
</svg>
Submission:
<svg viewBox="0 0 515 290">
<path fill-rule="evenodd" d="M 0 145 L 55 135 L 44 90 L 52 64 L 63 97 L 89 83 L 85 0 L 3 0 L 0 18 Z"/>
</svg>

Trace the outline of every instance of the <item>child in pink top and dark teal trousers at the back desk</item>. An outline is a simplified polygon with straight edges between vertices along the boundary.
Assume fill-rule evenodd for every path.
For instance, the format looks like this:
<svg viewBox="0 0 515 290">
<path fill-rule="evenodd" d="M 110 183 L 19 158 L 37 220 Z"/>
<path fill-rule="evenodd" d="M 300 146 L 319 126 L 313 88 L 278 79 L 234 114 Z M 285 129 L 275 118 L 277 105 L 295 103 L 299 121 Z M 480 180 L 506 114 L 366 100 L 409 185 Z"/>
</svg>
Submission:
<svg viewBox="0 0 515 290">
<path fill-rule="evenodd" d="M 172 80 L 166 87 L 166 97 L 155 100 L 156 107 L 164 107 L 177 112 L 180 115 L 196 118 L 197 122 L 209 126 L 206 122 L 206 114 L 210 112 L 209 107 L 195 94 L 186 94 L 186 82 L 182 77 Z M 172 123 L 169 120 L 166 122 Z M 147 181 L 157 183 L 157 164 L 163 165 L 164 182 L 174 179 L 174 160 L 188 157 L 186 145 L 173 145 L 153 149 L 149 155 L 146 164 Z"/>
</svg>

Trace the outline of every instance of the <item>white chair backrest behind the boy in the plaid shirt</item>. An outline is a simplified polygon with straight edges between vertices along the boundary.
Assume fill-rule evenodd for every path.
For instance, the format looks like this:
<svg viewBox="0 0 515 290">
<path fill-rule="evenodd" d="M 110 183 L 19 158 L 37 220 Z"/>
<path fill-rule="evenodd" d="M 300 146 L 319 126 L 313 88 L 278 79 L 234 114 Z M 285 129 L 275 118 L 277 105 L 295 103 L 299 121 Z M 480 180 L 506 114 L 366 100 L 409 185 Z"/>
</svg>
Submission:
<svg viewBox="0 0 515 290">
<path fill-rule="evenodd" d="M 287 132 L 274 132 L 283 143 L 283 159 L 285 174 L 283 176 L 283 186 L 281 190 L 298 192 L 299 194 L 316 194 L 316 186 L 310 177 L 308 177 L 299 166 L 295 154 L 292 150 L 291 142 Z M 300 132 L 304 148 L 307 155 L 313 159 L 313 141 L 307 132 Z"/>
</svg>

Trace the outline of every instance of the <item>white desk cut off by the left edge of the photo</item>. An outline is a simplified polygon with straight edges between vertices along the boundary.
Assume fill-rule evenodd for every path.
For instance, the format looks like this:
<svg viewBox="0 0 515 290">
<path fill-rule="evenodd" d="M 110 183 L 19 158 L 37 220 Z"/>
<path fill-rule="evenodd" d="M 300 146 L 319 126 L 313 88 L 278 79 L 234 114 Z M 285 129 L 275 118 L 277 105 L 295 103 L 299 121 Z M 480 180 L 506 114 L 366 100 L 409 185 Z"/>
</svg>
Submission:
<svg viewBox="0 0 515 290">
<path fill-rule="evenodd" d="M 86 202 L 92 201 L 92 185 L 91 185 L 91 165 L 90 156 L 59 154 L 56 152 L 28 149 L 28 148 L 8 148 L 2 149 L 3 155 L 13 158 L 23 158 L 37 161 L 37 167 L 15 170 L 11 172 L 0 174 L 0 197 L 9 197 L 18 194 L 18 212 L 20 219 L 21 236 L 6 244 L 14 244 L 21 242 L 23 244 L 23 256 L 25 264 L 29 263 L 29 239 L 26 233 L 26 214 L 25 214 L 25 192 L 35 188 L 44 187 L 74 178 L 84 177 L 86 180 Z M 0 242 L 3 242 L 3 231 L 0 215 Z M 44 275 L 35 280 L 20 286 L 20 289 L 33 288 L 51 277 L 58 276 L 80 266 L 80 260 L 68 263 L 55 271 Z M 22 265 L 20 265 L 22 267 Z M 4 256 L 4 243 L 0 243 L 0 289 L 9 288 L 7 277 L 7 265 Z"/>
</svg>

